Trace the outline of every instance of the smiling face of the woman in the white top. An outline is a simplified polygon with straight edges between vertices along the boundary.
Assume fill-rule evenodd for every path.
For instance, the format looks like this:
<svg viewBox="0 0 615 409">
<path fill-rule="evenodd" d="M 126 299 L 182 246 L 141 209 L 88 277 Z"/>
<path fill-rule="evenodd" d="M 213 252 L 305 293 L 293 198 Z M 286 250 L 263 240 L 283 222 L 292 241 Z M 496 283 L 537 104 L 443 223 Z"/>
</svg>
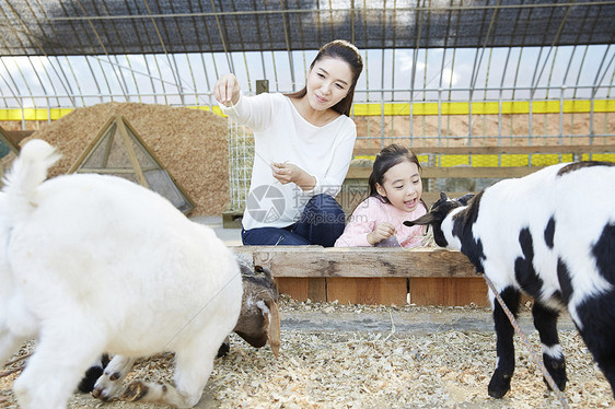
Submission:
<svg viewBox="0 0 615 409">
<path fill-rule="evenodd" d="M 343 59 L 324 57 L 308 74 L 308 101 L 315 110 L 326 110 L 344 100 L 352 85 L 352 71 Z"/>
</svg>

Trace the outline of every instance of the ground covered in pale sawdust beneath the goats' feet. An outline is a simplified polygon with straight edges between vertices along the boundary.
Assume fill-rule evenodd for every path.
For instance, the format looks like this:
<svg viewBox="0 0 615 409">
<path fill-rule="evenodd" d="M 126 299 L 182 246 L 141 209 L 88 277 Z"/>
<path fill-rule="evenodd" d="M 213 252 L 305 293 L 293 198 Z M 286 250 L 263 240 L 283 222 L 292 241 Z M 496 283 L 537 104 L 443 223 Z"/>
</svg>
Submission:
<svg viewBox="0 0 615 409">
<path fill-rule="evenodd" d="M 495 334 L 487 308 L 338 305 L 283 299 L 280 315 L 279 359 L 269 347 L 256 350 L 233 338 L 229 355 L 217 360 L 198 408 L 561 407 L 519 337 L 511 392 L 500 400 L 487 395 L 496 364 Z M 328 319 L 329 325 L 323 327 L 313 319 L 316 316 Z M 413 323 L 430 320 L 430 316 L 438 317 L 432 326 L 413 327 Z M 356 330 L 332 330 L 345 328 L 340 317 L 355 323 Z M 465 325 L 471 320 L 464 317 L 477 325 Z M 520 320 L 524 328 L 531 328 L 526 308 Z M 372 329 L 365 330 L 365 323 Z M 569 407 L 614 407 L 611 387 L 584 343 L 571 323 L 562 324 L 560 340 L 570 378 L 565 392 Z M 539 353 L 537 334 L 526 334 L 534 353 Z M 31 348 L 32 344 L 24 346 L 20 353 Z M 156 355 L 139 361 L 129 376 L 170 379 L 172 365 L 172 354 Z M 15 375 L 0 379 L 0 400 L 4 399 L 0 408 L 16 407 L 10 392 Z M 74 395 L 69 405 L 150 407 L 153 406 L 121 401 L 102 404 L 88 395 Z"/>
</svg>

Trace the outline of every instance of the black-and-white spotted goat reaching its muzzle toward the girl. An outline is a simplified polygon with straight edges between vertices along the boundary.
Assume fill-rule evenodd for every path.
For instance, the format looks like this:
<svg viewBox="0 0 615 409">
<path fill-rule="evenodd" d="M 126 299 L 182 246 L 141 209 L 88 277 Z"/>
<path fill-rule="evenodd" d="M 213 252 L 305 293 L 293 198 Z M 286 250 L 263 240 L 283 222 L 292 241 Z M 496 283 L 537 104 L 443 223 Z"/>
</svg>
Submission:
<svg viewBox="0 0 615 409">
<path fill-rule="evenodd" d="M 567 377 L 556 325 L 568 308 L 615 390 L 615 164 L 553 165 L 472 199 L 442 194 L 429 213 L 405 224 L 432 225 L 436 243 L 466 255 L 514 314 L 520 291 L 534 297 L 543 360 L 560 389 Z M 513 328 L 491 291 L 489 299 L 498 363 L 488 393 L 499 398 L 514 371 Z"/>
</svg>

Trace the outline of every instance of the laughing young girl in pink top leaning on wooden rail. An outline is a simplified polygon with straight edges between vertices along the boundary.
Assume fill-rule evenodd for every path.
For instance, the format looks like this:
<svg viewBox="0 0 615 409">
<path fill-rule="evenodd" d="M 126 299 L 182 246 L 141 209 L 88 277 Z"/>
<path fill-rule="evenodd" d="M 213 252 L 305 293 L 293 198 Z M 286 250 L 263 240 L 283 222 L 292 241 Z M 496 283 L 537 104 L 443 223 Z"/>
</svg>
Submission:
<svg viewBox="0 0 615 409">
<path fill-rule="evenodd" d="M 355 209 L 335 246 L 408 248 L 420 244 L 423 227 L 404 225 L 404 221 L 427 213 L 420 199 L 420 171 L 417 156 L 406 148 L 398 144 L 384 148 L 376 155 L 370 175 L 370 197 Z"/>
</svg>

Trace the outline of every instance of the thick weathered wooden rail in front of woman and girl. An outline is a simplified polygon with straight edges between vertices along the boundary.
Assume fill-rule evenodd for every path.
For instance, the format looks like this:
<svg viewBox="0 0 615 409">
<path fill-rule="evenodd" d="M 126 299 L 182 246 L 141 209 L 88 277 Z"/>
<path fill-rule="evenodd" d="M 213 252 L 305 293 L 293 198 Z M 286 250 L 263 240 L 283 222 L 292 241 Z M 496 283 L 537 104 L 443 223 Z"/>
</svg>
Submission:
<svg viewBox="0 0 615 409">
<path fill-rule="evenodd" d="M 255 265 L 268 267 L 274 277 L 476 277 L 463 254 L 445 249 L 243 247 Z"/>
</svg>

